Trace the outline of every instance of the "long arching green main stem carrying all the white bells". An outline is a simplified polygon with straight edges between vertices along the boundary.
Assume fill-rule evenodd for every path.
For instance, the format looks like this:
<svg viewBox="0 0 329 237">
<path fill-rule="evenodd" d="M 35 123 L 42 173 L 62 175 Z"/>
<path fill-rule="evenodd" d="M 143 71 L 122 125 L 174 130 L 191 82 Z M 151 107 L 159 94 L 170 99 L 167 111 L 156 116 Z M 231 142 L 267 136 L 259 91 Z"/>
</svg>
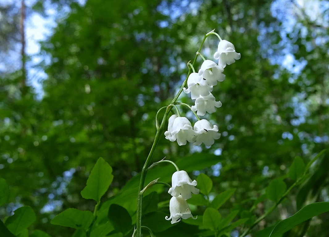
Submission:
<svg viewBox="0 0 329 237">
<path fill-rule="evenodd" d="M 207 37 L 209 36 L 209 33 L 203 37 L 200 47 L 198 49 L 198 52 L 201 50 L 203 43 L 205 42 L 205 40 L 207 39 Z M 196 54 L 192 63 L 192 66 L 194 66 L 196 59 L 197 59 L 198 55 Z M 170 102 L 170 104 L 174 104 L 176 102 L 176 100 L 178 99 L 179 95 L 182 93 L 183 88 L 186 87 L 187 84 L 187 79 L 190 76 L 192 70 L 189 69 L 189 72 L 186 76 L 186 79 L 184 80 L 181 88 L 179 89 L 179 91 L 177 92 L 177 94 L 175 95 L 175 97 L 172 99 L 172 101 Z M 142 198 L 143 198 L 143 194 L 140 192 L 141 190 L 143 190 L 144 188 L 144 182 L 145 182 L 145 177 L 146 177 L 146 173 L 147 173 L 147 168 L 149 167 L 155 148 L 157 147 L 163 129 L 164 129 L 164 124 L 166 122 L 167 116 L 171 110 L 171 106 L 167 106 L 166 111 L 164 113 L 164 117 L 162 119 L 161 125 L 159 127 L 159 129 L 157 128 L 157 133 L 155 134 L 155 138 L 154 138 L 154 142 L 153 145 L 151 147 L 150 153 L 148 154 L 145 164 L 143 166 L 143 169 L 141 171 L 141 176 L 140 176 L 140 181 L 139 181 L 139 189 L 138 189 L 138 195 L 137 195 L 137 213 L 136 213 L 136 237 L 141 237 L 141 217 L 142 217 Z M 159 125 L 159 124 L 158 124 Z"/>
</svg>

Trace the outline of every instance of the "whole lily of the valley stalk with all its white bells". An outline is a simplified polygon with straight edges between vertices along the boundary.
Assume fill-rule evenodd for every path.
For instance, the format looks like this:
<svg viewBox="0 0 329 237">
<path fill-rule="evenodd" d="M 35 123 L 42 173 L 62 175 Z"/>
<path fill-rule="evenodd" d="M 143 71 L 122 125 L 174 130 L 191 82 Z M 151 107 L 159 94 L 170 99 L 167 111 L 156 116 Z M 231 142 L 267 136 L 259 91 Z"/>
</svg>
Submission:
<svg viewBox="0 0 329 237">
<path fill-rule="evenodd" d="M 220 40 L 218 43 L 217 51 L 214 53 L 214 58 L 218 60 L 218 63 L 205 59 L 200 54 L 203 43 L 210 35 L 215 35 Z M 196 72 L 194 65 L 199 55 L 204 62 L 201 64 L 198 72 Z M 188 219 L 190 217 L 193 219 L 196 218 L 191 214 L 190 207 L 186 202 L 187 199 L 192 197 L 192 194 L 199 193 L 199 189 L 196 188 L 196 180 L 192 181 L 188 173 L 184 170 L 180 171 L 177 165 L 172 161 L 161 160 L 153 163 L 150 166 L 151 159 L 161 136 L 163 136 L 164 125 L 172 108 L 175 109 L 176 114 L 173 114 L 168 119 L 168 129 L 164 132 L 164 136 L 167 140 L 171 142 L 176 141 L 180 146 L 186 145 L 187 142 L 194 143 L 194 145 L 201 145 L 203 143 L 206 146 L 211 146 L 214 144 L 215 139 L 220 138 L 217 125 L 211 124 L 207 119 L 200 119 L 199 116 L 204 116 L 206 113 L 215 113 L 216 108 L 222 106 L 220 101 L 216 101 L 216 95 L 212 94 L 211 92 L 213 91 L 214 86 L 218 84 L 218 82 L 224 81 L 225 75 L 223 74 L 223 71 L 226 65 L 234 63 L 235 60 L 240 59 L 240 57 L 240 54 L 235 51 L 235 47 L 231 42 L 222 40 L 214 31 L 205 34 L 201 45 L 196 52 L 196 56 L 194 57 L 193 62 L 188 63 L 189 72 L 180 90 L 177 92 L 168 106 L 165 106 L 158 111 L 156 115 L 157 133 L 155 135 L 154 143 L 150 153 L 143 166 L 139 182 L 139 192 L 137 198 L 137 224 L 133 233 L 133 237 L 141 237 L 142 227 L 148 229 L 151 236 L 153 236 L 152 230 L 150 228 L 147 226 L 141 226 L 141 204 L 144 191 L 154 184 L 164 184 L 170 187 L 168 191 L 168 193 L 172 196 L 169 201 L 170 215 L 164 217 L 166 220 L 171 220 L 171 224 L 175 224 L 181 219 Z M 185 103 L 177 102 L 179 95 L 183 91 L 187 94 L 190 93 L 191 99 L 195 99 L 194 105 L 190 106 Z M 193 112 L 197 119 L 193 126 L 188 118 L 181 116 L 177 105 L 186 106 Z M 164 116 L 161 123 L 159 124 L 159 113 L 163 109 L 165 109 Z M 172 174 L 172 185 L 170 186 L 169 184 L 158 182 L 158 179 L 156 179 L 144 186 L 147 170 L 163 162 L 169 162 L 173 164 L 177 170 Z"/>
</svg>

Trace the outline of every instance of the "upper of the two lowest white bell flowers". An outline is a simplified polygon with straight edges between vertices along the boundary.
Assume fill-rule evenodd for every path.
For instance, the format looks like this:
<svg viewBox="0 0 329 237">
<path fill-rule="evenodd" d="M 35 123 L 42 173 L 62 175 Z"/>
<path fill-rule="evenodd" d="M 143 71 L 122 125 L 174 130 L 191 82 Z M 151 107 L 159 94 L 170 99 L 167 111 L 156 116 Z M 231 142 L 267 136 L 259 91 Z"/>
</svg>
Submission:
<svg viewBox="0 0 329 237">
<path fill-rule="evenodd" d="M 172 187 L 169 189 L 168 193 L 171 196 L 178 197 L 182 195 L 184 200 L 192 197 L 193 194 L 199 194 L 200 190 L 195 188 L 197 185 L 196 180 L 191 180 L 190 176 L 186 171 L 176 171 L 171 177 Z"/>
</svg>

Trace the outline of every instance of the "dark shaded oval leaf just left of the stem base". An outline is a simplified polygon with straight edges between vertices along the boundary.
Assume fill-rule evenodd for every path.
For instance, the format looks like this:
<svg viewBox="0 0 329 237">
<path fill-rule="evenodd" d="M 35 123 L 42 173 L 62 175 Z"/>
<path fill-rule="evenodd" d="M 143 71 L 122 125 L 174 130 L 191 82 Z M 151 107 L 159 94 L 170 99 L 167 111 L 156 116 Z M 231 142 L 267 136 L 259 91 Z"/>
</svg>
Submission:
<svg viewBox="0 0 329 237">
<path fill-rule="evenodd" d="M 112 204 L 108 213 L 109 220 L 114 229 L 125 234 L 132 226 L 132 220 L 128 211 L 117 204 Z"/>
</svg>

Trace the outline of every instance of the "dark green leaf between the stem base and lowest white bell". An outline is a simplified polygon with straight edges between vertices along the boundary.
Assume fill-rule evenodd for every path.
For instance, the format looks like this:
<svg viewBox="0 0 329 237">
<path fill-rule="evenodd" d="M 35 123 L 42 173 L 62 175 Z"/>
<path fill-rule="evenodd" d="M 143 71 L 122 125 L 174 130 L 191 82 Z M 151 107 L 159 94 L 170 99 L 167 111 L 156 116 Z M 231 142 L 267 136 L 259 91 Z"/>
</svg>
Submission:
<svg viewBox="0 0 329 237">
<path fill-rule="evenodd" d="M 170 223 L 171 220 L 167 221 L 164 219 L 166 216 L 169 217 L 170 215 L 161 211 L 148 213 L 143 216 L 142 225 L 149 227 L 153 232 L 162 232 L 173 226 Z"/>
</svg>

